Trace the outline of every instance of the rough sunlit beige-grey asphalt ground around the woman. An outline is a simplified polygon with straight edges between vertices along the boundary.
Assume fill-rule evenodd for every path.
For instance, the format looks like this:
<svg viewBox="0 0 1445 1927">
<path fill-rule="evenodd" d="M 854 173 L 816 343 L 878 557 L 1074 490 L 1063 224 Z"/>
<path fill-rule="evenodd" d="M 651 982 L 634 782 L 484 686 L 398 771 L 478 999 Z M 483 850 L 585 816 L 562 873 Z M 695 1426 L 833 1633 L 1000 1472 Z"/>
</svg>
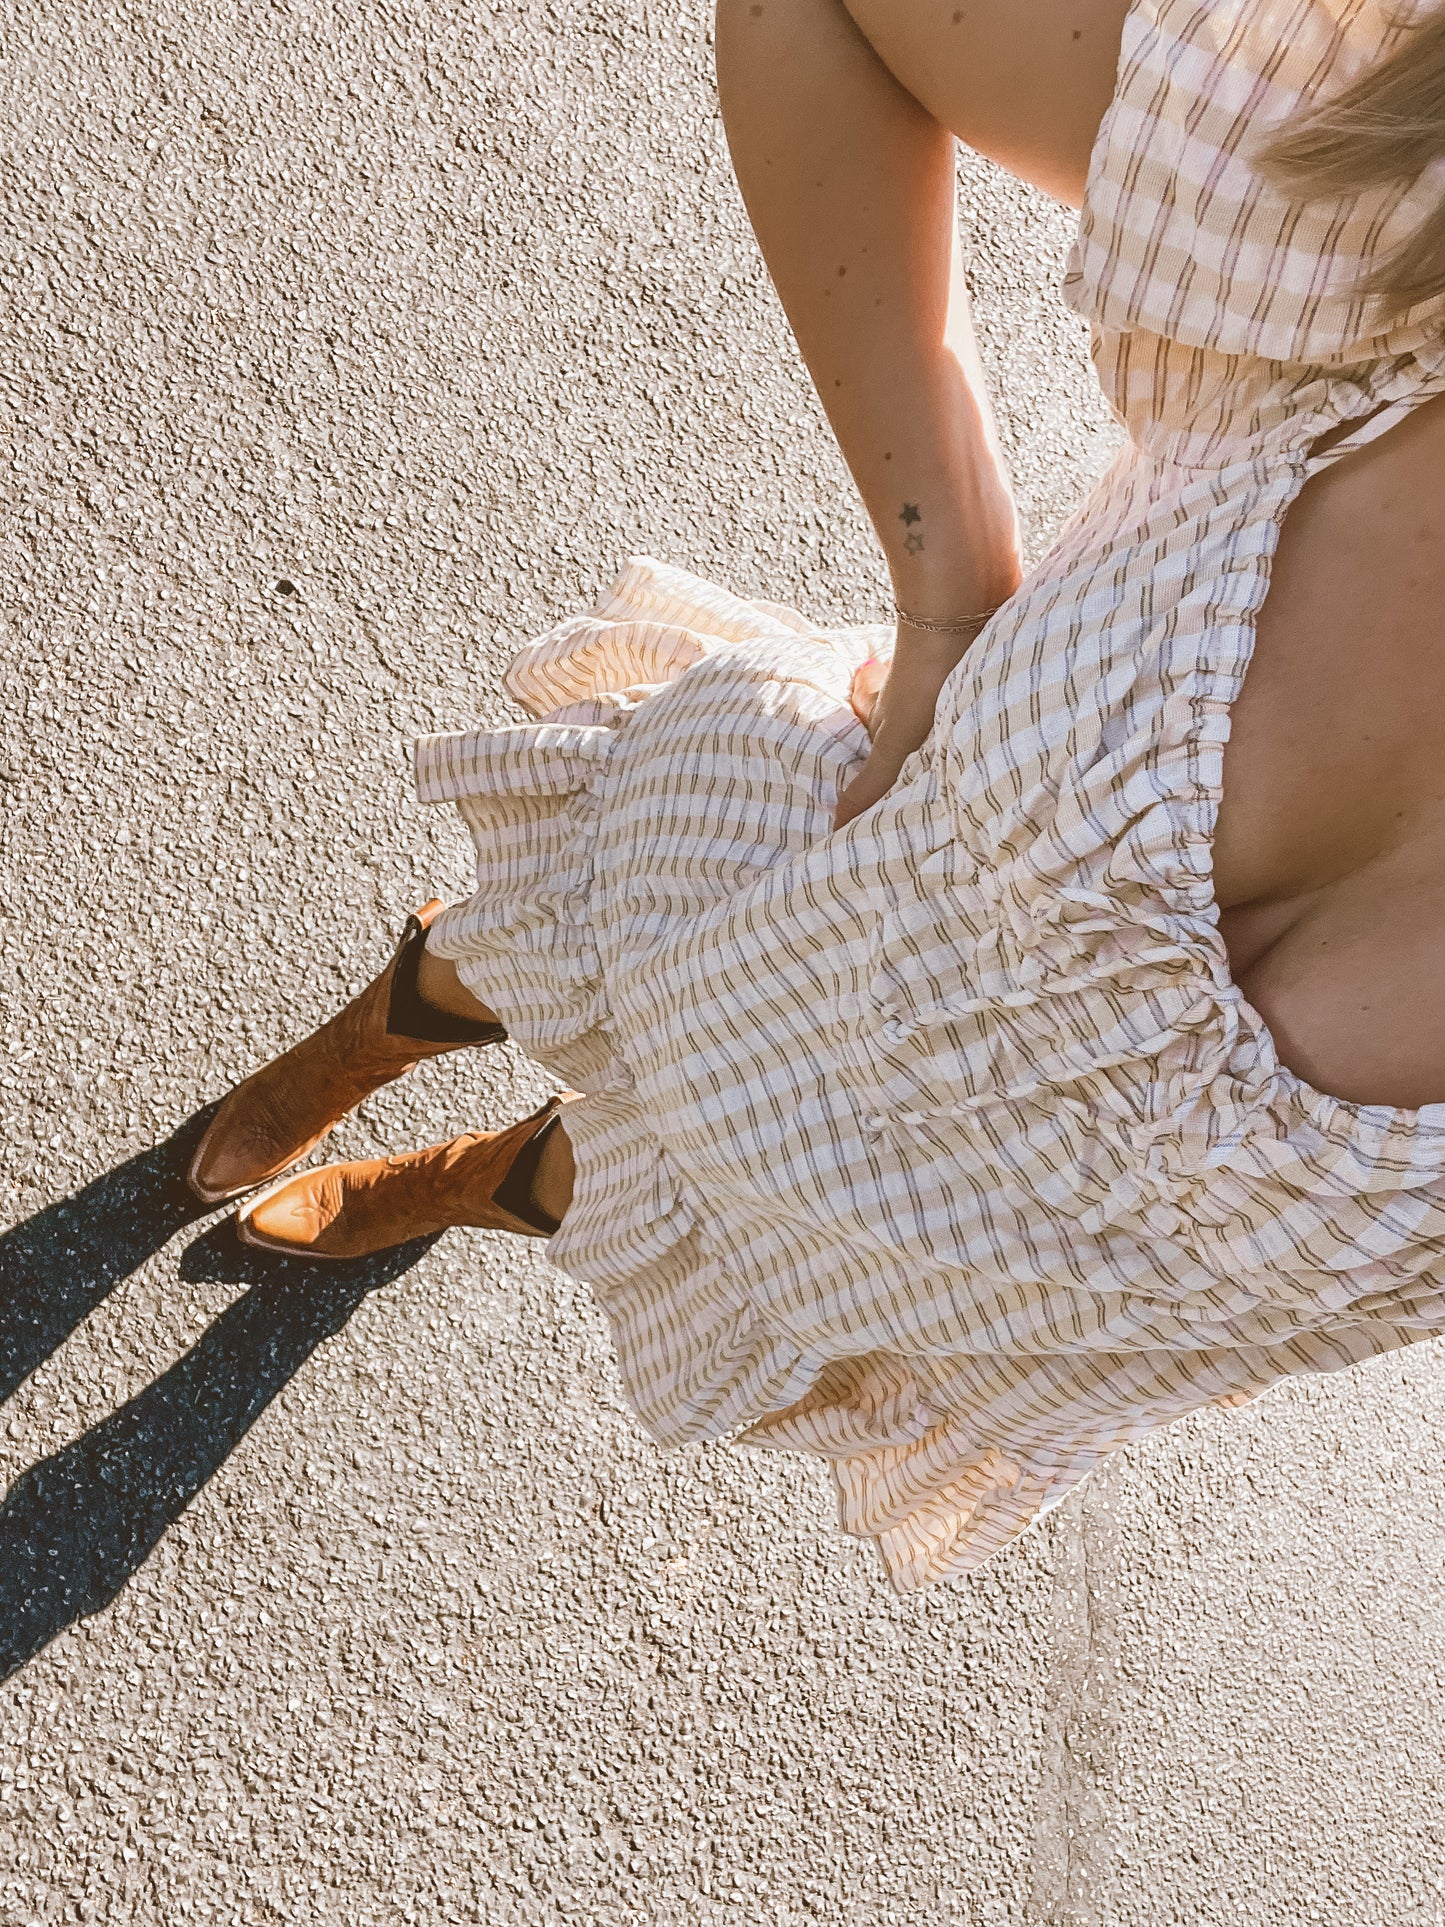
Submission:
<svg viewBox="0 0 1445 1927">
<path fill-rule="evenodd" d="M 882 576 L 699 0 L 4 0 L 0 1923 L 1439 1927 L 1445 1374 L 1114 1461 L 907 1601 L 809 1463 L 659 1455 L 588 1295 L 318 1283 L 197 1112 L 460 892 L 418 730 L 634 549 Z M 1035 551 L 1114 430 L 965 166 Z M 514 1116 L 511 1052 L 343 1150 Z"/>
</svg>

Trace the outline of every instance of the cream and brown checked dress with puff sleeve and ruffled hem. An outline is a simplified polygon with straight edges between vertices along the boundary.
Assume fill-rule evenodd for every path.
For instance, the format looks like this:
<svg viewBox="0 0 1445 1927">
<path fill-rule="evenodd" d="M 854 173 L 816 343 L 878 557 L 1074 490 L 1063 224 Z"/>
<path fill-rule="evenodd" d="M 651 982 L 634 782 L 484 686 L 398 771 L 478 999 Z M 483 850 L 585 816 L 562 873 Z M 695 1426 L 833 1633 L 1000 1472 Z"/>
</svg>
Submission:
<svg viewBox="0 0 1445 1927">
<path fill-rule="evenodd" d="M 434 942 L 586 1093 L 551 1256 L 642 1422 L 821 1453 L 900 1590 L 1152 1426 L 1445 1330 L 1445 1104 L 1285 1069 L 1210 883 L 1312 445 L 1445 389 L 1445 306 L 1353 293 L 1439 175 L 1300 208 L 1247 160 L 1393 17 L 1133 8 L 1067 277 L 1131 439 L 880 805 L 830 831 L 877 632 L 645 559 L 516 659 L 538 723 L 416 752 L 478 852 Z"/>
</svg>

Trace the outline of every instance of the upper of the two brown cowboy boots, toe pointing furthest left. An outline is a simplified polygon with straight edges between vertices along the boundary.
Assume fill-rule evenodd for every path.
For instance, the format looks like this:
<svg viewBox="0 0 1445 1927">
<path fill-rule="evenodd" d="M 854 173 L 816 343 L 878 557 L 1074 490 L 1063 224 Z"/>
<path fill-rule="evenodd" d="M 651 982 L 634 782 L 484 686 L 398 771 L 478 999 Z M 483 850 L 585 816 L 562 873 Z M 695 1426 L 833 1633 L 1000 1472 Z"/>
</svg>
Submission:
<svg viewBox="0 0 1445 1927">
<path fill-rule="evenodd" d="M 499 1023 L 472 1023 L 422 1002 L 416 969 L 441 908 L 434 898 L 408 917 L 395 956 L 360 996 L 222 1102 L 187 1172 L 202 1202 L 223 1204 L 289 1172 L 364 1096 L 422 1058 L 507 1037 Z"/>
</svg>

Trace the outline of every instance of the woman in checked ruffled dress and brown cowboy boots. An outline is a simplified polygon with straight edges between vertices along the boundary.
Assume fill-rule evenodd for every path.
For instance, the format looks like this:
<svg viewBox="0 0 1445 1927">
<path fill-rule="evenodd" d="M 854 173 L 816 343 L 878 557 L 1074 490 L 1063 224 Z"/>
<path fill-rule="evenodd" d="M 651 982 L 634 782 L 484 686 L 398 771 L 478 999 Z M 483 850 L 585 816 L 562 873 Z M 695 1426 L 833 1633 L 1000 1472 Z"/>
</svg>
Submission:
<svg viewBox="0 0 1445 1927">
<path fill-rule="evenodd" d="M 649 1432 L 827 1455 L 906 1590 L 1164 1420 L 1445 1328 L 1445 15 L 724 0 L 719 73 L 892 667 L 634 565 L 514 665 L 543 723 L 420 746 L 478 894 L 193 1181 L 505 1029 L 582 1095 L 243 1235 L 551 1235 Z M 1083 206 L 1131 437 L 1023 584 L 954 137 Z"/>
</svg>

